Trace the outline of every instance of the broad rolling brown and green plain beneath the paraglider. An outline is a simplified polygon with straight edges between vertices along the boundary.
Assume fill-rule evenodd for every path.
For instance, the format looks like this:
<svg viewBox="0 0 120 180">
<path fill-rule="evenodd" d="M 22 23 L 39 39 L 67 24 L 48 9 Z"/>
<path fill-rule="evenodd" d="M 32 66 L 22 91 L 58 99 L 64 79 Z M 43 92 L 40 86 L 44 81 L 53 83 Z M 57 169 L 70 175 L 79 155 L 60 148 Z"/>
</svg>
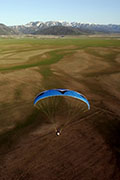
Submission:
<svg viewBox="0 0 120 180">
<path fill-rule="evenodd" d="M 50 88 L 91 104 L 59 137 L 33 106 Z M 0 39 L 0 180 L 34 179 L 120 180 L 119 39 Z"/>
</svg>

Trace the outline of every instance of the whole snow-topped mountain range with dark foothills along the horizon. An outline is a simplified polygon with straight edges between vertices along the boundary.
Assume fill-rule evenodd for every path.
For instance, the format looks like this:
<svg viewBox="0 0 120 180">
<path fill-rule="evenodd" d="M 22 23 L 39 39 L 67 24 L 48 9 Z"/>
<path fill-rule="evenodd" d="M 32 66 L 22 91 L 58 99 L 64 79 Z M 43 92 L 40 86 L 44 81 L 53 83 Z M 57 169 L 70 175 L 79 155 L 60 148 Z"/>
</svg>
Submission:
<svg viewBox="0 0 120 180">
<path fill-rule="evenodd" d="M 35 21 L 25 25 L 5 26 L 0 24 L 0 35 L 33 34 L 33 35 L 83 35 L 96 33 L 120 33 L 120 25 L 91 24 L 66 21 Z"/>
</svg>

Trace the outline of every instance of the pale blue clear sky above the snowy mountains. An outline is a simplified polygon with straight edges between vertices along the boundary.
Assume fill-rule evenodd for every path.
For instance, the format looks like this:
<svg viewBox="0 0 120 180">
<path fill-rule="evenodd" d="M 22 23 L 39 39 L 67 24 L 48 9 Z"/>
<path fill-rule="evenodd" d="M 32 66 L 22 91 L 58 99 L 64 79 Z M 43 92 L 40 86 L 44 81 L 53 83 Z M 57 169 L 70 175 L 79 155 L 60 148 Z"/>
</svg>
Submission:
<svg viewBox="0 0 120 180">
<path fill-rule="evenodd" d="M 50 20 L 120 24 L 120 0 L 0 0 L 0 23 Z"/>
</svg>

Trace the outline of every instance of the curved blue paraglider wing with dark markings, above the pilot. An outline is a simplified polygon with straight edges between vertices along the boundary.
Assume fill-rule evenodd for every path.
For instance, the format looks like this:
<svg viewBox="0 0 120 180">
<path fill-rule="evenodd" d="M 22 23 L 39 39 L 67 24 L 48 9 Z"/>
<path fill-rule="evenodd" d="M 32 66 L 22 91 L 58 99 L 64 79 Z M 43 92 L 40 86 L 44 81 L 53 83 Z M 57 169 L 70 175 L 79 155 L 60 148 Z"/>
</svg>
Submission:
<svg viewBox="0 0 120 180">
<path fill-rule="evenodd" d="M 36 96 L 34 100 L 34 105 L 41 99 L 52 97 L 52 96 L 69 96 L 69 97 L 79 99 L 85 102 L 88 106 L 88 109 L 90 109 L 89 101 L 87 100 L 85 96 L 83 96 L 82 94 L 76 91 L 69 90 L 69 89 L 50 89 L 50 90 L 43 91 Z"/>
</svg>

